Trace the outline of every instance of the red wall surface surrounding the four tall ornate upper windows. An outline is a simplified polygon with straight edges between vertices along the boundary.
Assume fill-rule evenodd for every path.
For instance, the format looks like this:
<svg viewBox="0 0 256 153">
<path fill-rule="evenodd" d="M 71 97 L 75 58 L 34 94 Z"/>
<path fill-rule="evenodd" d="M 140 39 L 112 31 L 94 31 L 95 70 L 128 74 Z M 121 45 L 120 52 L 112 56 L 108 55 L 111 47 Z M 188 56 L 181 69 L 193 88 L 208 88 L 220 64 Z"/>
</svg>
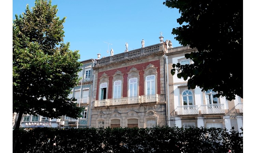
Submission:
<svg viewBox="0 0 256 153">
<path fill-rule="evenodd" d="M 130 69 L 132 67 L 137 68 L 137 70 L 139 70 L 139 75 L 140 75 L 140 80 L 139 80 L 139 96 L 144 95 L 144 69 L 146 69 L 146 67 L 148 66 L 148 64 L 153 64 L 155 67 L 157 67 L 157 94 L 160 94 L 160 60 L 157 61 L 152 61 L 152 62 L 146 62 L 146 63 L 142 63 L 142 64 L 137 64 L 137 65 L 133 65 L 133 66 L 125 66 L 125 67 L 120 67 L 117 69 L 111 69 L 111 70 L 107 70 L 107 71 L 102 71 L 98 73 L 98 84 L 97 84 L 97 92 L 96 92 L 96 100 L 99 99 L 99 81 L 100 81 L 100 77 L 102 76 L 103 73 L 106 73 L 109 76 L 109 87 L 108 87 L 108 99 L 112 98 L 112 81 L 113 81 L 113 77 L 112 75 L 115 74 L 115 72 L 117 70 L 121 71 L 124 75 L 124 82 L 123 82 L 123 97 L 127 97 L 127 77 L 128 74 L 127 72 L 130 71 Z"/>
</svg>

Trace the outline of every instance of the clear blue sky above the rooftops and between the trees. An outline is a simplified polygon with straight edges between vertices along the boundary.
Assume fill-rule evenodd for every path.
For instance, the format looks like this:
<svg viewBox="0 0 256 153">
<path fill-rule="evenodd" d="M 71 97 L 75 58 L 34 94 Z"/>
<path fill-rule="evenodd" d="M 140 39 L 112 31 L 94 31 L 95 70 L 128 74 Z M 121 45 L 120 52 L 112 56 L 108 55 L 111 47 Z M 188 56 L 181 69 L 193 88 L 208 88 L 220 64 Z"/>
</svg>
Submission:
<svg viewBox="0 0 256 153">
<path fill-rule="evenodd" d="M 84 61 L 97 58 L 97 53 L 110 56 L 107 50 L 113 48 L 114 54 L 123 53 L 128 43 L 128 50 L 141 48 L 171 40 L 173 47 L 181 46 L 171 34 L 179 27 L 177 9 L 163 5 L 165 0 L 52 0 L 57 5 L 57 16 L 67 17 L 63 24 L 64 41 L 70 42 L 72 51 L 79 50 Z M 34 0 L 13 0 L 13 19 L 25 12 L 26 5 L 34 6 Z M 106 43 L 104 43 L 106 42 Z M 109 44 L 108 44 L 109 43 Z M 112 44 L 112 45 L 111 45 Z"/>
</svg>

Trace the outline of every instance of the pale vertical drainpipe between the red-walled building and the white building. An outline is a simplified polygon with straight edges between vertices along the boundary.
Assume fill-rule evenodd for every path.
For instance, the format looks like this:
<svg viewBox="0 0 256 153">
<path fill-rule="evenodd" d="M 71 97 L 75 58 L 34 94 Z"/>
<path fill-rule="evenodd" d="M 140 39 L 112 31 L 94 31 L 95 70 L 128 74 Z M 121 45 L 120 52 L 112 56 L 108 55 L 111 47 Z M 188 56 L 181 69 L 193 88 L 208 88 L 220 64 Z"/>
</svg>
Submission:
<svg viewBox="0 0 256 153">
<path fill-rule="evenodd" d="M 167 98 L 167 123 L 168 126 L 171 126 L 171 121 L 170 121 L 170 95 L 169 95 L 169 68 L 168 68 L 168 56 L 164 55 L 165 57 L 165 65 L 166 65 L 166 74 L 165 77 L 167 78 L 166 81 L 166 98 Z"/>
</svg>

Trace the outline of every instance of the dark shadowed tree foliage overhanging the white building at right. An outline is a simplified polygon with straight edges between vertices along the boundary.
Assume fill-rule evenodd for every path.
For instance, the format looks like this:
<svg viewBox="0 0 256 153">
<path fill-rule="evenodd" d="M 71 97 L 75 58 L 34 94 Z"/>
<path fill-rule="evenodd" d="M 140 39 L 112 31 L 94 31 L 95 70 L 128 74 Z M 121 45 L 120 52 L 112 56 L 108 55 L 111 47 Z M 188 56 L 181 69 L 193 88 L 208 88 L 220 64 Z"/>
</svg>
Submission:
<svg viewBox="0 0 256 153">
<path fill-rule="evenodd" d="M 173 64 L 172 75 L 188 79 L 188 89 L 213 89 L 228 100 L 243 98 L 243 5 L 219 0 L 166 0 L 168 7 L 177 8 L 181 27 L 172 34 L 183 46 L 197 52 L 185 54 L 194 64 Z"/>
</svg>

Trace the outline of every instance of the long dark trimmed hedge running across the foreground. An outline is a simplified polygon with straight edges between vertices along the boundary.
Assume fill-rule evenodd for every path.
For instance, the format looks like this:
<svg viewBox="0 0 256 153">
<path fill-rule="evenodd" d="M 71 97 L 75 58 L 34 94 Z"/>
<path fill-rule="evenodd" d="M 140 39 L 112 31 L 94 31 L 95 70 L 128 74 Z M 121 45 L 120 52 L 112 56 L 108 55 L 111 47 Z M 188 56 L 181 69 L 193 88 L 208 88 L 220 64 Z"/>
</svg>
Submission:
<svg viewBox="0 0 256 153">
<path fill-rule="evenodd" d="M 233 128 L 35 128 L 13 131 L 15 140 L 15 153 L 243 152 L 243 132 Z"/>
</svg>

